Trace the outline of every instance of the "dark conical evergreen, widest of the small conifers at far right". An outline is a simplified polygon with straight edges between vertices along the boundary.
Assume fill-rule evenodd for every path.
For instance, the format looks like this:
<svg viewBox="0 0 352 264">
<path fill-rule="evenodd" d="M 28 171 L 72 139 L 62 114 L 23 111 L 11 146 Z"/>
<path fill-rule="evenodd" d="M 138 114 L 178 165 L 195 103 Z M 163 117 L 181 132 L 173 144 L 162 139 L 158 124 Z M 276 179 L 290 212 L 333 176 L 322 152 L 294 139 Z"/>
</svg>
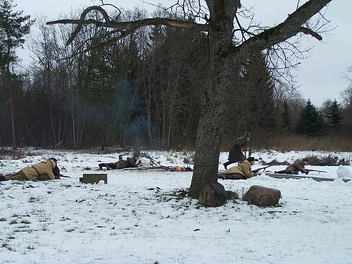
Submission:
<svg viewBox="0 0 352 264">
<path fill-rule="evenodd" d="M 322 114 L 308 99 L 298 119 L 296 132 L 307 136 L 321 134 L 324 130 L 324 120 Z"/>
</svg>

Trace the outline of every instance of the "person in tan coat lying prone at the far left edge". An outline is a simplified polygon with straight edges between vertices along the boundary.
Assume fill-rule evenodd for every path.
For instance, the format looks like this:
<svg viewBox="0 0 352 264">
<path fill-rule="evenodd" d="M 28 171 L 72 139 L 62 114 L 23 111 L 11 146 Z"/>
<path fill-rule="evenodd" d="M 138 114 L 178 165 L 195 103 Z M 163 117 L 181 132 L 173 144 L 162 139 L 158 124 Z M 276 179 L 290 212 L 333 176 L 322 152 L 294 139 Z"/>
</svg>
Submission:
<svg viewBox="0 0 352 264">
<path fill-rule="evenodd" d="M 8 180 L 54 180 L 60 179 L 60 169 L 58 168 L 56 158 L 49 158 L 30 167 L 25 167 L 19 172 L 8 175 L 0 175 L 0 181 Z"/>
</svg>

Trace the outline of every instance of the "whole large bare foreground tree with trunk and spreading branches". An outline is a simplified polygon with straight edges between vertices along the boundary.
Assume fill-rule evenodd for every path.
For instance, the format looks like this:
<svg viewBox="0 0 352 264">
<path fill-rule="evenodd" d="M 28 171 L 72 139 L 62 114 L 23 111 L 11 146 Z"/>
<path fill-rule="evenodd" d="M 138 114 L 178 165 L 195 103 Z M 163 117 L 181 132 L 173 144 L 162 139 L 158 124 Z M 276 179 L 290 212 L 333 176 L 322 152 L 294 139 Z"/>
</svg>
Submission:
<svg viewBox="0 0 352 264">
<path fill-rule="evenodd" d="M 178 0 L 169 9 L 175 13 L 182 13 L 184 20 L 170 18 L 146 18 L 142 20 L 120 21 L 111 18 L 102 6 L 91 6 L 85 9 L 80 19 L 56 20 L 47 23 L 75 24 L 73 34 L 68 39 L 70 44 L 79 34 L 84 25 L 96 25 L 111 29 L 111 34 L 117 34 L 103 45 L 113 44 L 119 39 L 135 32 L 139 27 L 148 25 L 165 25 L 185 29 L 199 30 L 208 34 L 208 71 L 206 85 L 202 87 L 202 110 L 196 138 L 196 156 L 194 175 L 189 189 L 189 196 L 198 198 L 201 188 L 209 182 L 217 181 L 220 137 L 223 130 L 223 118 L 229 105 L 230 89 L 236 89 L 232 80 L 234 73 L 239 73 L 241 64 L 251 54 L 270 49 L 272 46 L 287 41 L 296 34 L 309 34 L 321 40 L 318 34 L 321 23 L 309 23 L 314 15 L 331 0 L 309 0 L 298 6 L 296 11 L 289 14 L 284 22 L 275 27 L 244 28 L 239 23 L 237 15 L 241 12 L 240 0 L 206 0 L 202 6 L 200 0 Z M 91 11 L 103 15 L 103 20 L 86 19 Z M 195 23 L 196 18 L 206 20 L 205 24 Z M 320 21 L 318 19 L 318 21 Z M 315 21 L 313 21 L 315 22 Z M 242 38 L 236 39 L 234 32 L 241 33 Z M 97 46 L 89 46 L 88 49 Z M 233 65 L 229 67 L 229 65 Z"/>
</svg>

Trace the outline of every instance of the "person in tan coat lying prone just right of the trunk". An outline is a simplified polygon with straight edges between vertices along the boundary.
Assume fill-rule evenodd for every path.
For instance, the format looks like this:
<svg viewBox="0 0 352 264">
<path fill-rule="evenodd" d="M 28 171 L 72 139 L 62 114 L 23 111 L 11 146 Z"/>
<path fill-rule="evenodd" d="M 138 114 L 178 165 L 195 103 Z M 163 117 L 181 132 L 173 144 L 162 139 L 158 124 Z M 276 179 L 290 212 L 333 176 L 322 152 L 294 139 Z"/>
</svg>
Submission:
<svg viewBox="0 0 352 264">
<path fill-rule="evenodd" d="M 258 170 L 251 171 L 255 158 L 249 157 L 240 165 L 231 167 L 225 172 L 222 172 L 221 178 L 224 180 L 247 180 L 258 175 Z"/>
</svg>

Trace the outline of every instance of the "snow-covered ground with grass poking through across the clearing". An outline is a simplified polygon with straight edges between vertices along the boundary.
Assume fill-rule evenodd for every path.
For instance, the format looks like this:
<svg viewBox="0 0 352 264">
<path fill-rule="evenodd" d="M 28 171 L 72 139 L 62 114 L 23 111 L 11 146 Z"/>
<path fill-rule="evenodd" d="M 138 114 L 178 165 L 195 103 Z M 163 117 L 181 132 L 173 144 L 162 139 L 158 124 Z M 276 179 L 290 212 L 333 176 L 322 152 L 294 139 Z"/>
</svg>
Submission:
<svg viewBox="0 0 352 264">
<path fill-rule="evenodd" d="M 259 184 L 279 189 L 282 199 L 272 208 L 241 200 L 204 208 L 172 195 L 189 187 L 191 172 L 110 170 L 108 184 L 80 184 L 84 168 L 116 161 L 118 153 L 37 152 L 42 154 L 1 160 L 0 174 L 55 156 L 61 172 L 72 178 L 0 182 L 0 263 L 352 263 L 352 181 L 265 174 L 219 180 L 240 196 Z M 183 165 L 182 153 L 149 153 L 162 165 Z M 291 162 L 329 154 L 352 156 L 311 151 L 253 156 Z M 220 164 L 226 160 L 227 153 L 221 153 Z M 329 172 L 312 176 L 337 177 L 338 167 L 308 168 Z M 352 172 L 352 166 L 346 168 Z"/>
</svg>

